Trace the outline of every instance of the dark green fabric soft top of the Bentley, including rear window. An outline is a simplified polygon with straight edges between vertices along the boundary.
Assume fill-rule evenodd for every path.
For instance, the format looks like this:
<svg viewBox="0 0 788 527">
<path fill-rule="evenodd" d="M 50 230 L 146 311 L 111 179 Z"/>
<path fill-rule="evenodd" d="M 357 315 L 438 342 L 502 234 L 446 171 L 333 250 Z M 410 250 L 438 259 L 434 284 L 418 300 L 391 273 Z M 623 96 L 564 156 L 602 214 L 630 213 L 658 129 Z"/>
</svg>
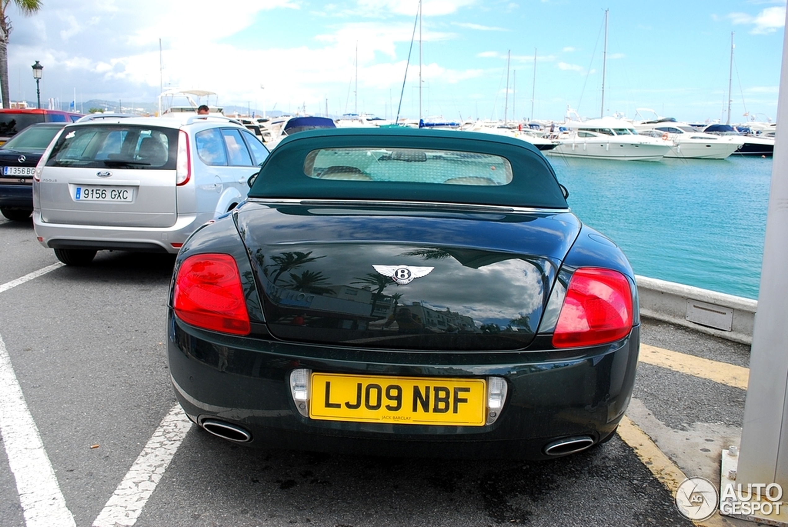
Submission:
<svg viewBox="0 0 788 527">
<path fill-rule="evenodd" d="M 266 159 L 249 197 L 567 208 L 556 173 L 530 143 L 415 128 L 291 135 Z"/>
</svg>

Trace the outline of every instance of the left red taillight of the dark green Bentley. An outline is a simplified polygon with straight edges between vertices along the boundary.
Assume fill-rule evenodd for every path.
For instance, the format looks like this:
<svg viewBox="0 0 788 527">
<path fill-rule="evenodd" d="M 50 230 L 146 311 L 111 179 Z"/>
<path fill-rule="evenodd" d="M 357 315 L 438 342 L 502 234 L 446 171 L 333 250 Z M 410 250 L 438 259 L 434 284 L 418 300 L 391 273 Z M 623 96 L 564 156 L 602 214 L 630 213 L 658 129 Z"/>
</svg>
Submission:
<svg viewBox="0 0 788 527">
<path fill-rule="evenodd" d="M 195 254 L 180 265 L 175 314 L 198 328 L 235 335 L 251 332 L 238 265 L 229 254 Z"/>
</svg>

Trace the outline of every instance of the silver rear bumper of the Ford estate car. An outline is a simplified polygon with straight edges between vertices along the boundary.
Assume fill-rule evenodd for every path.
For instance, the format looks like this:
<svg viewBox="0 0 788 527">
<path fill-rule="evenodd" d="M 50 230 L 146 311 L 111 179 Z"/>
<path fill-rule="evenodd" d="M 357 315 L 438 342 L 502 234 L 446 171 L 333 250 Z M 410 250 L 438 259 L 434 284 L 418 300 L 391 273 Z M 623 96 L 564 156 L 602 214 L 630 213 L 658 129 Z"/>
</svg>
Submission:
<svg viewBox="0 0 788 527">
<path fill-rule="evenodd" d="M 41 221 L 39 210 L 34 210 L 33 228 L 39 242 L 53 249 L 111 249 L 175 254 L 192 232 L 212 218 L 213 213 L 189 214 L 179 216 L 175 225 L 170 227 L 109 227 L 45 223 Z"/>
</svg>

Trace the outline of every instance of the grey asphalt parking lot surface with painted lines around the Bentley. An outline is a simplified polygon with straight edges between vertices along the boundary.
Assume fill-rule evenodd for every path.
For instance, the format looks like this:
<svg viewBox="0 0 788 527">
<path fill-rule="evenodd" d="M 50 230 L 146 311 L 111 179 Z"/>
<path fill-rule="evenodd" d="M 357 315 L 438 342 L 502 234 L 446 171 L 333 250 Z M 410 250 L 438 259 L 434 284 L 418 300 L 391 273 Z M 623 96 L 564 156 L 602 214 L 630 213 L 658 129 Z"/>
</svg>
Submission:
<svg viewBox="0 0 788 527">
<path fill-rule="evenodd" d="M 174 408 L 173 260 L 102 251 L 68 268 L 31 222 L 0 220 L 0 400 L 22 402 L 18 415 L 0 410 L 0 525 L 692 525 L 652 473 L 660 461 L 626 433 L 549 462 L 252 450 L 210 436 Z M 642 342 L 634 429 L 675 469 L 719 481 L 745 389 L 681 365 L 741 373 L 749 347 L 648 321 Z"/>
</svg>

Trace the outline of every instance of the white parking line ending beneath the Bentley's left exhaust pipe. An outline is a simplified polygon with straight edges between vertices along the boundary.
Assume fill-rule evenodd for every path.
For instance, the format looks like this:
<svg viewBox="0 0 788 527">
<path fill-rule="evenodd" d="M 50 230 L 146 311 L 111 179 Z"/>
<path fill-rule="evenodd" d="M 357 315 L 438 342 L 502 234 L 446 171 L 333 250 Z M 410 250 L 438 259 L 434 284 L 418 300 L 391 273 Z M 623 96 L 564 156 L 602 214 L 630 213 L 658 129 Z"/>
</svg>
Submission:
<svg viewBox="0 0 788 527">
<path fill-rule="evenodd" d="M 129 527 L 135 524 L 189 429 L 191 421 L 184 410 L 180 405 L 173 406 L 132 468 L 128 469 L 126 477 L 93 522 L 93 527 Z"/>
</svg>

